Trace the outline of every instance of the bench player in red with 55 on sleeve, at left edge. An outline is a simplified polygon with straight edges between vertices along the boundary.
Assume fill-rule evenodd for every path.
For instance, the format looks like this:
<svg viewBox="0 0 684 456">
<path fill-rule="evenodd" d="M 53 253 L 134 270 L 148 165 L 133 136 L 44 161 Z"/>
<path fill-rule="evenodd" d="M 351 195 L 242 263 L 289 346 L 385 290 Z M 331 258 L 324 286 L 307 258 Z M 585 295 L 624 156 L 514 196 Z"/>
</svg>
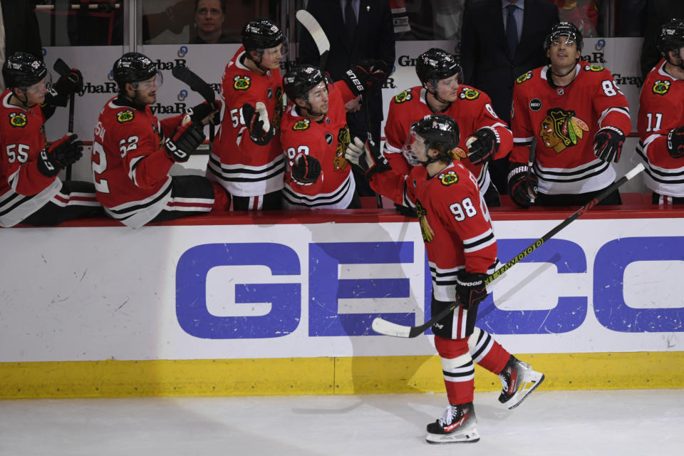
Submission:
<svg viewBox="0 0 684 456">
<path fill-rule="evenodd" d="M 7 90 L 0 106 L 0 226 L 56 225 L 102 214 L 88 182 L 64 181 L 61 170 L 83 155 L 76 135 L 46 145 L 44 123 L 82 83 L 72 70 L 48 92 L 48 70 L 31 54 L 16 52 L 2 67 Z"/>
</svg>

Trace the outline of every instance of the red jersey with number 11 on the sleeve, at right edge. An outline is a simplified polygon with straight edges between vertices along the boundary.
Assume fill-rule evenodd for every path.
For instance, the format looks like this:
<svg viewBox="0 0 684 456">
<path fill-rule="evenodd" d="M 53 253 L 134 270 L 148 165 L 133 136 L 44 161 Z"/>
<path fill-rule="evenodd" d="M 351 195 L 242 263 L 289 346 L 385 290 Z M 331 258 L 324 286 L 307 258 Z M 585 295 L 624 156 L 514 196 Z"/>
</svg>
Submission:
<svg viewBox="0 0 684 456">
<path fill-rule="evenodd" d="M 668 153 L 668 133 L 684 125 L 684 81 L 665 72 L 665 59 L 646 76 L 639 99 L 636 152 L 646 166 L 643 183 L 660 195 L 684 197 L 684 159 Z"/>
</svg>

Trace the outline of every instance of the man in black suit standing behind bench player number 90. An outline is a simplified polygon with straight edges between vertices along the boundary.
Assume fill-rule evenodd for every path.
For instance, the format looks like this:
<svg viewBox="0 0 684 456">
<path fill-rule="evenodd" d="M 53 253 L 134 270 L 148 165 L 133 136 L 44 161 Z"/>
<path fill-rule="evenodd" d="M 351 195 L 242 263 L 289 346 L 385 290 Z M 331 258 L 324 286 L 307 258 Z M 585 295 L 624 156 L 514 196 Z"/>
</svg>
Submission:
<svg viewBox="0 0 684 456">
<path fill-rule="evenodd" d="M 388 0 L 309 0 L 307 11 L 316 18 L 330 41 L 330 54 L 323 70 L 333 81 L 364 59 L 378 59 L 393 68 L 395 59 L 394 26 Z M 300 63 L 318 66 L 320 56 L 306 30 L 299 38 Z M 383 95 L 377 86 L 364 95 L 371 117 L 371 135 L 380 147 L 380 124 L 383 121 Z M 358 103 L 348 103 L 347 123 L 352 136 L 366 138 L 366 115 Z M 361 196 L 374 195 L 362 173 L 356 173 L 356 188 Z"/>
</svg>

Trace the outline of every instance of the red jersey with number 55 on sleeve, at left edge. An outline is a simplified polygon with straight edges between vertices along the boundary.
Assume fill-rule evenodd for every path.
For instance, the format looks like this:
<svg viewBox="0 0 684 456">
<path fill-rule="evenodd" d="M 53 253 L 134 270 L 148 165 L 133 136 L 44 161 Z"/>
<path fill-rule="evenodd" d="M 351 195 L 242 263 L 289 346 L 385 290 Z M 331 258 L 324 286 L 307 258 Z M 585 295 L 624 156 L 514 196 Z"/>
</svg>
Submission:
<svg viewBox="0 0 684 456">
<path fill-rule="evenodd" d="M 9 104 L 11 90 L 0 106 L 0 226 L 13 227 L 43 207 L 61 189 L 58 177 L 38 171 L 38 154 L 45 149 L 45 116 L 40 106 Z"/>
</svg>

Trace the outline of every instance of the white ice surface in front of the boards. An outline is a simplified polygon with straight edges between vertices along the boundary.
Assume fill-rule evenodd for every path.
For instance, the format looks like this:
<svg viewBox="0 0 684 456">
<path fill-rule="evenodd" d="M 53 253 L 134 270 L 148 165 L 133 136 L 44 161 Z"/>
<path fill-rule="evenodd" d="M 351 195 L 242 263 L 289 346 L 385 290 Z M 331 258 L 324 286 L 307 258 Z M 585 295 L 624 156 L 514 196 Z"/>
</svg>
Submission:
<svg viewBox="0 0 684 456">
<path fill-rule="evenodd" d="M 682 455 L 684 390 L 476 393 L 477 443 L 428 445 L 441 394 L 0 401 L 0 455 Z"/>
</svg>

